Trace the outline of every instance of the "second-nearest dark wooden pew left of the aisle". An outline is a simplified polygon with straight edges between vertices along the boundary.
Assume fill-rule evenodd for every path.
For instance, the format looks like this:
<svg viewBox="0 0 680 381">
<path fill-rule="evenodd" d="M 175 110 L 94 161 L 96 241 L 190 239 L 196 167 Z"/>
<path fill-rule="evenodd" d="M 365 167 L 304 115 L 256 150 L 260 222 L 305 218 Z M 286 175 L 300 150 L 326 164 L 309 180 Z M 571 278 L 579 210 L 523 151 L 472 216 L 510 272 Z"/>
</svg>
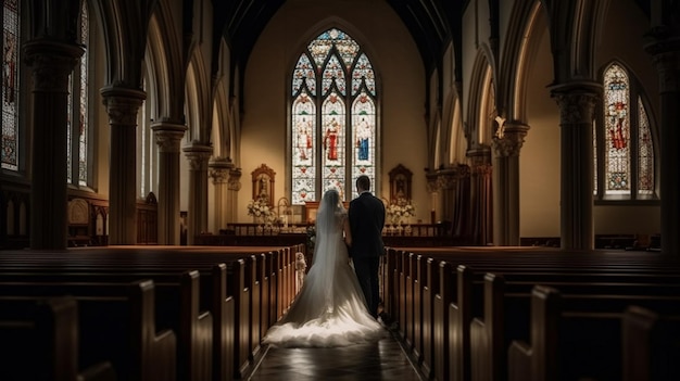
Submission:
<svg viewBox="0 0 680 381">
<path fill-rule="evenodd" d="M 95 284 L 73 295 L 78 312 L 78 365 L 88 368 L 110 361 L 118 379 L 175 380 L 176 335 L 156 333 L 154 284 Z M 49 297 L 64 294 L 55 285 L 27 289 L 0 285 L 3 295 Z M 70 292 L 76 290 L 67 290 Z M 5 296 L 7 297 L 7 296 Z"/>
</svg>

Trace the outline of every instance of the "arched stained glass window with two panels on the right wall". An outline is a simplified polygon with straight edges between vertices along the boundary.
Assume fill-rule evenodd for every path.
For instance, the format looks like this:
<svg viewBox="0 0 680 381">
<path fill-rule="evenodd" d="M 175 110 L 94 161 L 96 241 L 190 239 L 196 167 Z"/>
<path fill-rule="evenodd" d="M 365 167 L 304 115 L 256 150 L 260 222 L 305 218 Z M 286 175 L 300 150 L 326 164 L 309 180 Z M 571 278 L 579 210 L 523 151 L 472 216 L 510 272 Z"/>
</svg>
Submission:
<svg viewBox="0 0 680 381">
<path fill-rule="evenodd" d="M 603 85 L 602 140 L 593 135 L 594 157 L 602 165 L 595 165 L 595 194 L 604 200 L 652 199 L 654 143 L 639 87 L 617 63 L 604 72 Z"/>
</svg>

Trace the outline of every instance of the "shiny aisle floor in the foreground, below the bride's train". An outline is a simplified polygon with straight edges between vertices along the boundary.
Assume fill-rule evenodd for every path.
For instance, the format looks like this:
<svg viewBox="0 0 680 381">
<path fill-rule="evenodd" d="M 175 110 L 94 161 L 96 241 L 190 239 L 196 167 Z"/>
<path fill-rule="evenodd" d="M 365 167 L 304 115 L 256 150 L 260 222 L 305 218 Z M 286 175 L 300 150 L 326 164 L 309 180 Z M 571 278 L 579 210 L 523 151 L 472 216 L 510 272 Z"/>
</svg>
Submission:
<svg viewBox="0 0 680 381">
<path fill-rule="evenodd" d="M 252 381 L 425 380 L 392 334 L 368 344 L 338 348 L 266 350 Z"/>
</svg>

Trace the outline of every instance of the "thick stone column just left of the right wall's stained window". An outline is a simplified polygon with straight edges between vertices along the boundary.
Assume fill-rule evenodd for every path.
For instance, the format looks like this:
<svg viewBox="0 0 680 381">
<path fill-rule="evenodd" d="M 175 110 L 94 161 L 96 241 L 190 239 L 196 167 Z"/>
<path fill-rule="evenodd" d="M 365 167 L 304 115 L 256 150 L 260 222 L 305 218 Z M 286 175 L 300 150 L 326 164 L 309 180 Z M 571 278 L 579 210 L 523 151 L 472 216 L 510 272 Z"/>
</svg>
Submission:
<svg viewBox="0 0 680 381">
<path fill-rule="evenodd" d="M 561 246 L 592 250 L 593 117 L 601 86 L 577 82 L 553 87 L 561 127 Z"/>
</svg>

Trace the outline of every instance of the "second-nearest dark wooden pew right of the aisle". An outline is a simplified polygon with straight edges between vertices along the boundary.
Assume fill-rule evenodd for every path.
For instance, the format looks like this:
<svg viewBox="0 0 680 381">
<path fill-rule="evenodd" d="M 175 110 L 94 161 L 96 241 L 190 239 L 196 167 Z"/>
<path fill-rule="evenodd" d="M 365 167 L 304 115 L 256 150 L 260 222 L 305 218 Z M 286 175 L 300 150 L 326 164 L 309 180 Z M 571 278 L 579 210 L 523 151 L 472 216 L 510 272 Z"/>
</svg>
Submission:
<svg viewBox="0 0 680 381">
<path fill-rule="evenodd" d="M 513 341 L 508 350 L 508 380 L 620 380 L 621 322 L 626 301 L 603 305 L 599 295 L 568 301 L 557 290 L 537 285 L 531 294 L 530 344 Z M 595 300 L 589 301 L 589 296 Z M 607 297 L 606 301 L 612 301 Z M 584 302 L 584 303 L 583 303 Z M 664 313 L 678 313 L 678 297 L 631 297 Z M 608 303 L 606 303 L 608 304 Z M 529 373 L 524 373 L 527 371 Z"/>
</svg>

